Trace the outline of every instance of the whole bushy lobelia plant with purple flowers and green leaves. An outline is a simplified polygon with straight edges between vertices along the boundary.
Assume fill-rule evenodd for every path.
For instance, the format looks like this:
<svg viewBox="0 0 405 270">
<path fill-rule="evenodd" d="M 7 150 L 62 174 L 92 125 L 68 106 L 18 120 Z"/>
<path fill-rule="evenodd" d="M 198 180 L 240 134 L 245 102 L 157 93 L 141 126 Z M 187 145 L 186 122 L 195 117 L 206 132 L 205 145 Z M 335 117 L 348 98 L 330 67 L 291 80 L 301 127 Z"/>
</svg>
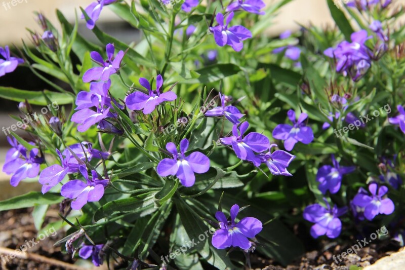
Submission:
<svg viewBox="0 0 405 270">
<path fill-rule="evenodd" d="M 64 252 L 128 269 L 267 266 L 251 264 L 256 254 L 287 265 L 308 236 L 343 241 L 402 224 L 400 12 L 353 1 L 343 13 L 328 1 L 338 27 L 270 37 L 289 2 L 96 1 L 80 8 L 80 23 L 101 46 L 79 21 L 57 11 L 55 27 L 38 14 L 33 47 L 18 57 L 0 48 L 0 76 L 20 65 L 53 91 L 0 86 L 0 96 L 20 102 L 14 119 L 26 132 L 3 128 L 3 171 L 13 186 L 35 178 L 42 190 L 0 210 L 32 206 L 44 217 L 59 205 L 61 220 L 39 227 L 68 226 Z M 100 30 L 104 9 L 141 40 Z M 393 230 L 387 239 L 400 243 L 403 230 Z"/>
</svg>

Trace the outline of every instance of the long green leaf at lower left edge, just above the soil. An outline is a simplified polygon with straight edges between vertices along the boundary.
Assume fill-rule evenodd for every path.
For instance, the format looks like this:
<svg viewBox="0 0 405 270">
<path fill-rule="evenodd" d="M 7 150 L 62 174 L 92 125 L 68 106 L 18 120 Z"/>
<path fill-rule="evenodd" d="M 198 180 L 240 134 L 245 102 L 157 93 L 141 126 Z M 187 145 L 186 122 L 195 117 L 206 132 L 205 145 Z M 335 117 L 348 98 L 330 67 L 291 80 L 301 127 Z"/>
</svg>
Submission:
<svg viewBox="0 0 405 270">
<path fill-rule="evenodd" d="M 54 195 L 49 192 L 46 194 L 42 194 L 42 192 L 30 191 L 27 194 L 1 201 L 0 211 L 27 208 L 36 205 L 58 204 L 62 202 L 63 199 L 63 197 Z"/>
</svg>

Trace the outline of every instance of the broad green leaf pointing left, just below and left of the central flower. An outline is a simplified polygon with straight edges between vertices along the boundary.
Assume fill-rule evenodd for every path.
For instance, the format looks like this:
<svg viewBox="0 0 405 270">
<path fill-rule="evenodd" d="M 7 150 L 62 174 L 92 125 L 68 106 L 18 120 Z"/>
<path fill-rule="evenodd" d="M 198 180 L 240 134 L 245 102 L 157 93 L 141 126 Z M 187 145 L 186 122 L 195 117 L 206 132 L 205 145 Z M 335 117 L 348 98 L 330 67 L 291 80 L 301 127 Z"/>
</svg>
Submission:
<svg viewBox="0 0 405 270">
<path fill-rule="evenodd" d="M 136 214 L 138 217 L 146 216 L 156 211 L 153 207 L 155 195 L 156 192 L 152 191 L 137 195 L 137 197 L 108 202 L 97 209 L 93 219 L 97 221 L 105 217 L 124 213 Z"/>
</svg>

